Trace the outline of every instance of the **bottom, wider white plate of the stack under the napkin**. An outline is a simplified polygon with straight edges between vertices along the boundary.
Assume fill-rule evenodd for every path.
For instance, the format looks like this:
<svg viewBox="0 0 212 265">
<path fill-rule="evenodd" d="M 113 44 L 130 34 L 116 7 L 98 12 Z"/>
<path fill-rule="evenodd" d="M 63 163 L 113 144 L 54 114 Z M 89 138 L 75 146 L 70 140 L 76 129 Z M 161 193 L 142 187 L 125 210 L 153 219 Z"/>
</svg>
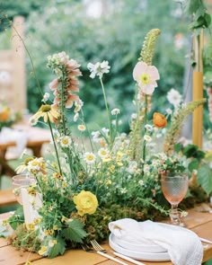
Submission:
<svg viewBox="0 0 212 265">
<path fill-rule="evenodd" d="M 125 249 L 114 242 L 113 234 L 109 236 L 109 245 L 114 251 L 139 261 L 170 261 L 168 252 L 135 252 Z"/>
</svg>

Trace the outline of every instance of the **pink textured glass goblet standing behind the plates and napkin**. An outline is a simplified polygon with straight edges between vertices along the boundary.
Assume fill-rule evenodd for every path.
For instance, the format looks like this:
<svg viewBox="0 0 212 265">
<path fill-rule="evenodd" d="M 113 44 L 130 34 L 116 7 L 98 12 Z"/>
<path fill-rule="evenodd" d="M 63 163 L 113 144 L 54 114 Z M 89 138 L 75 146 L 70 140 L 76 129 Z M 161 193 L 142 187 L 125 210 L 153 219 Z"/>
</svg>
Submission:
<svg viewBox="0 0 212 265">
<path fill-rule="evenodd" d="M 184 224 L 181 223 L 178 205 L 185 197 L 188 186 L 188 175 L 185 173 L 167 172 L 162 174 L 161 187 L 165 199 L 167 199 L 171 204 L 170 218 L 172 225 L 184 226 Z"/>
</svg>

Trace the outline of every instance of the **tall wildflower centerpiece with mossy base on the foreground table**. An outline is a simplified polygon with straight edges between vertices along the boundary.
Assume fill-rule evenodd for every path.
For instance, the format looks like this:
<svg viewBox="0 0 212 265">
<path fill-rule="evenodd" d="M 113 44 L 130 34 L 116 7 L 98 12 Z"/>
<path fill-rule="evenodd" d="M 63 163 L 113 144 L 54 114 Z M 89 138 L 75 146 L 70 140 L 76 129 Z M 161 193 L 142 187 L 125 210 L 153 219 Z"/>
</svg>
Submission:
<svg viewBox="0 0 212 265">
<path fill-rule="evenodd" d="M 54 99 L 50 101 L 49 93 L 43 95 L 31 124 L 43 119 L 49 125 L 54 159 L 27 156 L 17 168 L 18 173 L 34 176 L 36 181 L 27 192 L 32 206 L 37 196 L 42 205 L 37 209 L 39 216 L 31 223 L 24 223 L 22 209 L 9 218 L 15 230 L 13 245 L 52 258 L 63 254 L 66 247 L 74 248 L 93 238 L 105 240 L 111 220 L 125 216 L 155 219 L 158 212 L 168 213 L 160 202 L 160 173 L 187 169 L 192 155 L 186 158 L 182 146 L 178 146 L 176 154 L 174 144 L 185 117 L 205 100 L 188 104 L 180 100 L 165 115 L 155 112 L 149 117 L 151 97 L 160 78 L 157 68 L 152 66 L 159 34 L 155 29 L 146 35 L 132 73 L 136 81 L 135 112 L 129 134 L 119 132 L 120 110 L 110 110 L 107 102 L 102 81 L 103 75 L 110 72 L 107 61 L 88 64 L 90 76 L 100 80 L 107 115 L 105 128 L 91 132 L 84 120 L 84 102 L 78 95 L 80 65 L 65 52 L 48 57 L 48 67 L 56 75 L 49 84 Z M 164 134 L 169 116 L 171 126 L 164 135 L 164 144 L 160 152 L 155 151 L 154 139 Z M 190 172 L 193 169 L 190 165 Z"/>
</svg>

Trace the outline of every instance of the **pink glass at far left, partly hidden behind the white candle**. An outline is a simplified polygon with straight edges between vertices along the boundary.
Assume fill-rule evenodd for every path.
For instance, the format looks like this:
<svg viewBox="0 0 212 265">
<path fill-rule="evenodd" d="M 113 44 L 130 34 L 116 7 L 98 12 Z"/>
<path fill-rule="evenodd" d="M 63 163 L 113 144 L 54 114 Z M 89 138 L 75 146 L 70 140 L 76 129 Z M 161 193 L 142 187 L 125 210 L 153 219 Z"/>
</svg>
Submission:
<svg viewBox="0 0 212 265">
<path fill-rule="evenodd" d="M 22 205 L 22 188 L 27 188 L 35 183 L 35 178 L 29 175 L 15 175 L 12 178 L 13 194 Z"/>
</svg>

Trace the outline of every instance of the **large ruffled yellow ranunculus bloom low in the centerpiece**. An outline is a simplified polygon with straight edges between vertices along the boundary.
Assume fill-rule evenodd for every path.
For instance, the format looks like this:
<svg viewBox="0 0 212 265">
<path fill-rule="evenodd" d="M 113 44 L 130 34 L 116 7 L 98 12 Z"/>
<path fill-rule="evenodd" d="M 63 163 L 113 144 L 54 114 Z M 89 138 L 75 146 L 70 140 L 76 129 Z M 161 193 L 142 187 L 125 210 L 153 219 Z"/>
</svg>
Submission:
<svg viewBox="0 0 212 265">
<path fill-rule="evenodd" d="M 80 216 L 84 216 L 84 214 L 93 215 L 98 207 L 98 200 L 90 191 L 82 190 L 79 194 L 74 196 L 74 202 L 75 208 Z"/>
</svg>

